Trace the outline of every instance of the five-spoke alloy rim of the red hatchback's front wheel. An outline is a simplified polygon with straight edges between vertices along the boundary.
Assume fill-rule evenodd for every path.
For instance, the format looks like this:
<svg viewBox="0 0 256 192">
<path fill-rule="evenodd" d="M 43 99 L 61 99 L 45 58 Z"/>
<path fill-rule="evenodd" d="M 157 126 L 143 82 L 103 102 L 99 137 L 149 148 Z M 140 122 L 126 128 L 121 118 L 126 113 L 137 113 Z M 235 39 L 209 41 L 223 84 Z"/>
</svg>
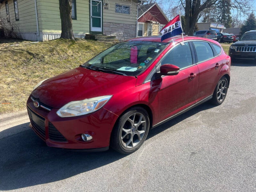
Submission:
<svg viewBox="0 0 256 192">
<path fill-rule="evenodd" d="M 141 113 L 133 113 L 129 116 L 121 131 L 121 143 L 125 148 L 133 148 L 138 145 L 145 135 L 147 128 L 146 118 Z"/>
</svg>

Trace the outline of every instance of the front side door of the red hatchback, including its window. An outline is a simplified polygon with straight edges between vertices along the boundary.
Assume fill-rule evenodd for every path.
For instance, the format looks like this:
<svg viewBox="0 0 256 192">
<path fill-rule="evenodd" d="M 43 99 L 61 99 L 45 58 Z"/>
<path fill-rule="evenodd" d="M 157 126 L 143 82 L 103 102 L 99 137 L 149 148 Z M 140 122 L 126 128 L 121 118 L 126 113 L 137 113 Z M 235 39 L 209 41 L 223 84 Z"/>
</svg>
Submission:
<svg viewBox="0 0 256 192">
<path fill-rule="evenodd" d="M 167 52 L 157 66 L 176 65 L 180 72 L 174 76 L 160 77 L 158 84 L 158 120 L 163 121 L 195 103 L 199 70 L 193 62 L 190 44 L 178 44 Z"/>
</svg>

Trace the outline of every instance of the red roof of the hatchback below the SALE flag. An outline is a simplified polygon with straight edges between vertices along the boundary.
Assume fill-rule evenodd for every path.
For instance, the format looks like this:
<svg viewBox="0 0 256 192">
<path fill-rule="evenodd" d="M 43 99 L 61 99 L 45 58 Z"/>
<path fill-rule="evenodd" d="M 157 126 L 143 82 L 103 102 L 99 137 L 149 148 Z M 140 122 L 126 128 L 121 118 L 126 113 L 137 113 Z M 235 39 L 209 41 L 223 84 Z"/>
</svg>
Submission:
<svg viewBox="0 0 256 192">
<path fill-rule="evenodd" d="M 161 42 L 161 37 L 162 37 L 162 36 L 137 37 L 137 38 L 128 39 L 128 40 L 126 40 L 126 41 L 153 41 L 153 42 Z M 208 39 L 208 38 L 204 38 L 204 37 L 197 37 L 197 36 L 187 36 L 187 35 L 184 35 L 183 38 L 184 38 L 184 41 L 195 39 L 195 40 L 209 41 L 209 42 L 211 42 L 211 43 L 218 44 L 217 41 L 214 41 L 214 40 Z M 182 41 L 182 36 L 181 36 L 181 35 L 177 35 L 177 36 L 173 36 L 173 37 L 164 39 L 162 42 L 164 42 L 164 43 L 169 43 L 169 42 L 181 42 L 181 41 Z"/>
</svg>

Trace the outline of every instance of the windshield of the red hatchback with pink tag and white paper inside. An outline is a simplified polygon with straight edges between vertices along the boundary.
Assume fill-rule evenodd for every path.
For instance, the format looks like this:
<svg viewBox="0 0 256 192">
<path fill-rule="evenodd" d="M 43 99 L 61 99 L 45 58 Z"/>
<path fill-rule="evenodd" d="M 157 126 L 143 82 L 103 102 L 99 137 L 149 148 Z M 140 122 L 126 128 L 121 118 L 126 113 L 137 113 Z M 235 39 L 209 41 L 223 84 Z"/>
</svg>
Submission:
<svg viewBox="0 0 256 192">
<path fill-rule="evenodd" d="M 149 41 L 126 41 L 101 52 L 82 67 L 106 73 L 137 76 L 156 59 L 169 43 Z"/>
</svg>

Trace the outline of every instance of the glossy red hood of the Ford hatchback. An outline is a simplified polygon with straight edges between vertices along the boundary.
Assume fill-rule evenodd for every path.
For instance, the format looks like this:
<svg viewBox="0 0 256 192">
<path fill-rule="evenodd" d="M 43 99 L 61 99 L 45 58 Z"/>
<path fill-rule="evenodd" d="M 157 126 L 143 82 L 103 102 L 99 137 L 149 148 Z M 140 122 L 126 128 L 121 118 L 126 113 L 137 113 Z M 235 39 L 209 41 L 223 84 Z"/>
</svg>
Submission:
<svg viewBox="0 0 256 192">
<path fill-rule="evenodd" d="M 86 68 L 76 68 L 44 81 L 31 94 L 40 102 L 61 108 L 70 101 L 84 100 L 135 87 L 136 78 Z"/>
</svg>

